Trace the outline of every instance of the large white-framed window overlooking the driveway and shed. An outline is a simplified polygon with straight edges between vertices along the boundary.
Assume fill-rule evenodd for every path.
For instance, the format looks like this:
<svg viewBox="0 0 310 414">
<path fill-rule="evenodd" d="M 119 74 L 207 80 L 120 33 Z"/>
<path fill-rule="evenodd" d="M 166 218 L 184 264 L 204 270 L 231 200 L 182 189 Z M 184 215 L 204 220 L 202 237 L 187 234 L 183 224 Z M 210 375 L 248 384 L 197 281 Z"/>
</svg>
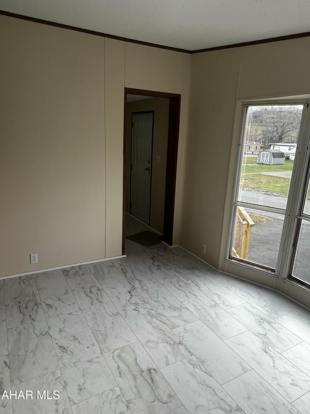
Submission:
<svg viewBox="0 0 310 414">
<path fill-rule="evenodd" d="M 282 152 L 273 151 L 275 144 L 255 164 L 253 156 L 240 150 L 227 258 L 310 287 L 310 140 L 303 127 L 310 122 L 307 108 L 307 101 L 244 104 L 241 149 L 249 137 L 260 136 L 265 149 L 271 140 L 290 140 L 303 151 L 286 160 Z"/>
</svg>

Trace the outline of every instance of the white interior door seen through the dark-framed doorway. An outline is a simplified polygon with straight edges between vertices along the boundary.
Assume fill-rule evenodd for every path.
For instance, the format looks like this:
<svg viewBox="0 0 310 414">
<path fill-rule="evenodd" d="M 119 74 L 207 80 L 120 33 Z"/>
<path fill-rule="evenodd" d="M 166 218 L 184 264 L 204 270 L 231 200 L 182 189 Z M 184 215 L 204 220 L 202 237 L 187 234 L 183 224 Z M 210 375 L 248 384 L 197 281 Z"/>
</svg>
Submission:
<svg viewBox="0 0 310 414">
<path fill-rule="evenodd" d="M 133 114 L 131 133 L 131 214 L 150 224 L 153 113 Z"/>
</svg>

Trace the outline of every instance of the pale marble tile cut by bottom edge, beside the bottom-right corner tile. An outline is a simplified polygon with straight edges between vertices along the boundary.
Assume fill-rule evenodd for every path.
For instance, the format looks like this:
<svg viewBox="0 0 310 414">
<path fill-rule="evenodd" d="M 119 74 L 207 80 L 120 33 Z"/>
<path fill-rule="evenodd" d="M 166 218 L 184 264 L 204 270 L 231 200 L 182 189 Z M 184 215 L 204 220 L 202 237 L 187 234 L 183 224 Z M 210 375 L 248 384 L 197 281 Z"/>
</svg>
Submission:
<svg viewBox="0 0 310 414">
<path fill-rule="evenodd" d="M 251 370 L 223 385 L 247 414 L 298 414 L 268 382 Z"/>
</svg>

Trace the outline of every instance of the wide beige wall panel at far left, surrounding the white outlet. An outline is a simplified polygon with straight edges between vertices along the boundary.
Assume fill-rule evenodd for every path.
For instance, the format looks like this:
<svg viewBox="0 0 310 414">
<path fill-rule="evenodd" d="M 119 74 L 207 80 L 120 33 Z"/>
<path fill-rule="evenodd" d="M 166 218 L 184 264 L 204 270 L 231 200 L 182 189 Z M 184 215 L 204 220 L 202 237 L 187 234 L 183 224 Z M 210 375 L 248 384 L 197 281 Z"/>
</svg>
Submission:
<svg viewBox="0 0 310 414">
<path fill-rule="evenodd" d="M 0 50 L 0 276 L 102 259 L 104 38 L 0 16 Z"/>
</svg>

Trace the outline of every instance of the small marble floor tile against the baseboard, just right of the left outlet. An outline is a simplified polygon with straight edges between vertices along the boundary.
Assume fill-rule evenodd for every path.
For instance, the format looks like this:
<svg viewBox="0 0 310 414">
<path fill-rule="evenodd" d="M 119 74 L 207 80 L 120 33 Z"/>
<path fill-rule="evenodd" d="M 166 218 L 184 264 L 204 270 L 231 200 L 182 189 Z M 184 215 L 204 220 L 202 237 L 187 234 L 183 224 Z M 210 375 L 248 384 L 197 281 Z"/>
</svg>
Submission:
<svg viewBox="0 0 310 414">
<path fill-rule="evenodd" d="M 34 275 L 41 299 L 67 295 L 70 287 L 61 270 L 50 270 Z"/>
</svg>

